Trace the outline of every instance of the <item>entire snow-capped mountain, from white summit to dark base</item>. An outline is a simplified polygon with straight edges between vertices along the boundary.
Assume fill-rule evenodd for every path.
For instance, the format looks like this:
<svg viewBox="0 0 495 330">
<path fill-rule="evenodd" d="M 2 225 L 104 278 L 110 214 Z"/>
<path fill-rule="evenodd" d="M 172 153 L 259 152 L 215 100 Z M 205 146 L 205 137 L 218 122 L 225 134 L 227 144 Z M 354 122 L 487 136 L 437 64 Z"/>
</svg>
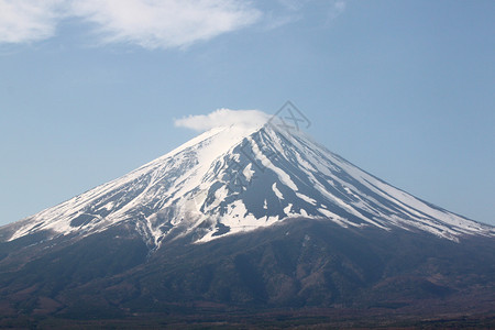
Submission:
<svg viewBox="0 0 495 330">
<path fill-rule="evenodd" d="M 209 322 L 226 309 L 239 318 L 280 307 L 491 322 L 495 228 L 395 188 L 277 120 L 212 129 L 0 228 L 3 326 L 19 326 L 19 315 L 168 322 L 198 310 Z"/>
</svg>

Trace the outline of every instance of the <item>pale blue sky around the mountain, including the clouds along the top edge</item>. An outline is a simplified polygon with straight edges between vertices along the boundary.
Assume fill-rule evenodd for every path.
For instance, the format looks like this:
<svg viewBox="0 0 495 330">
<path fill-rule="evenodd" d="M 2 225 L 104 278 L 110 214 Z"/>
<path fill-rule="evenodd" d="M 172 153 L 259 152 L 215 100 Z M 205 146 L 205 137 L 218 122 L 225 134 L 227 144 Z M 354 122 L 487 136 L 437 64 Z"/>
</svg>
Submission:
<svg viewBox="0 0 495 330">
<path fill-rule="evenodd" d="M 219 108 L 275 113 L 495 224 L 494 1 L 0 0 L 0 224 L 162 155 Z"/>
</svg>

